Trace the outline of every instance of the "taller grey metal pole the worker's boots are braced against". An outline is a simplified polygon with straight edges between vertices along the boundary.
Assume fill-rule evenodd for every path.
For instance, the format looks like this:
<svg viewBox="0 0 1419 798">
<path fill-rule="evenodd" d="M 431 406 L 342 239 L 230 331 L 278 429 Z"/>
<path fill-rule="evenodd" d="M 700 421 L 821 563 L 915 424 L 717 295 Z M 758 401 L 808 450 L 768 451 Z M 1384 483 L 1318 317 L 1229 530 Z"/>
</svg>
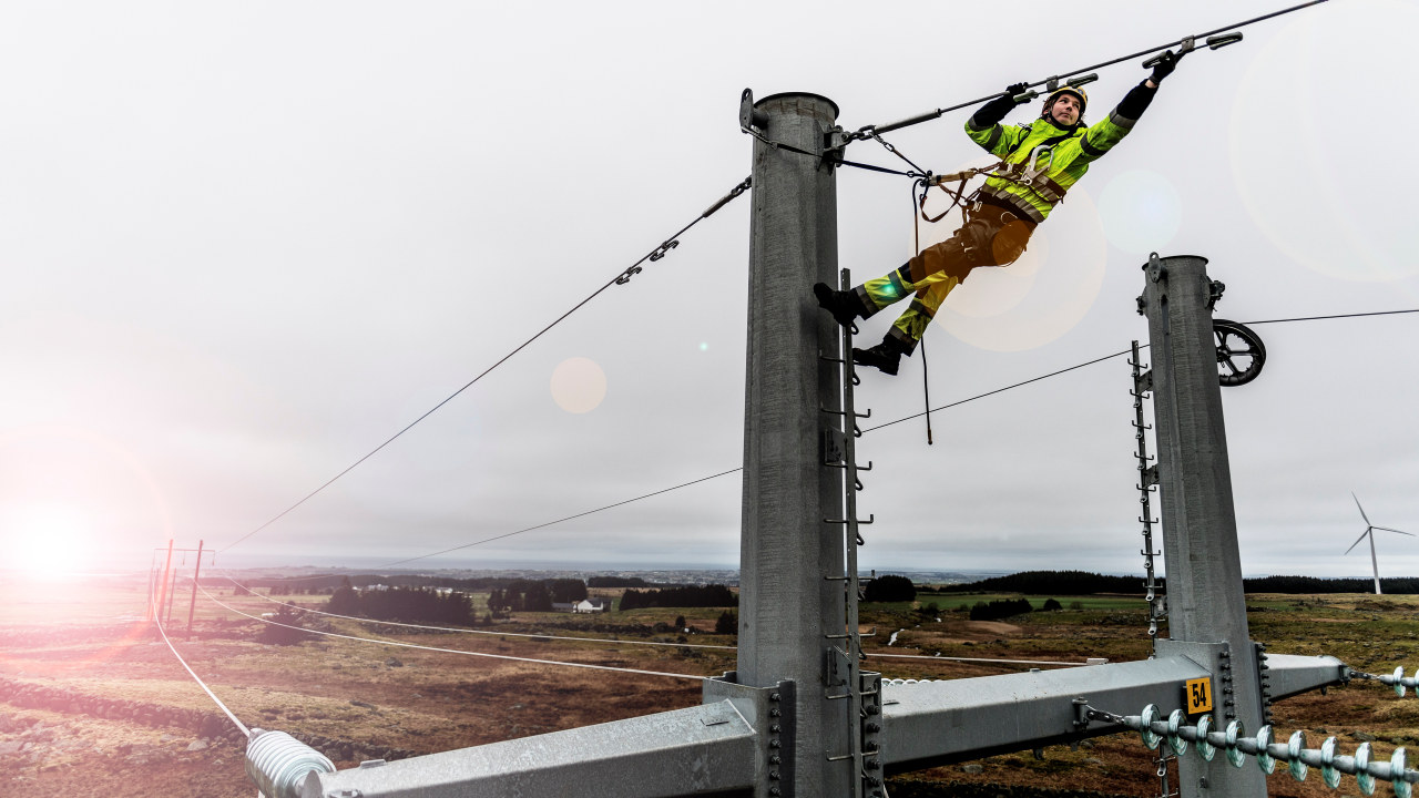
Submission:
<svg viewBox="0 0 1419 798">
<path fill-rule="evenodd" d="M 768 139 L 809 152 L 823 151 L 837 118 L 813 94 L 776 94 L 753 111 Z M 837 284 L 833 169 L 756 142 L 751 214 L 736 682 L 796 686 L 786 794 L 851 795 L 851 763 L 827 760 L 850 745 L 846 703 L 824 697 L 826 635 L 846 625 L 843 582 L 824 578 L 841 576 L 844 557 L 841 530 L 823 523 L 843 511 L 841 471 L 823 467 L 822 453 L 833 419 L 823 410 L 840 409 L 841 383 L 819 355 L 837 328 L 812 290 Z"/>
</svg>

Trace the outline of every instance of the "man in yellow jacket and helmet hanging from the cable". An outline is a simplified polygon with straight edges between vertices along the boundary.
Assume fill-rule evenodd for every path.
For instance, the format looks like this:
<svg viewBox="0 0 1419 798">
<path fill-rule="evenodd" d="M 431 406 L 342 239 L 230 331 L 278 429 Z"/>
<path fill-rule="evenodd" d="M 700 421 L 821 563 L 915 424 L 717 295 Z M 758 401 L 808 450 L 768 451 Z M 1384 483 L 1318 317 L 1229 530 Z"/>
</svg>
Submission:
<svg viewBox="0 0 1419 798">
<path fill-rule="evenodd" d="M 1088 172 L 1090 163 L 1128 135 L 1152 102 L 1158 84 L 1172 72 L 1179 58 L 1182 55 L 1174 55 L 1171 50 L 1164 53 L 1152 74 L 1134 87 L 1105 119 L 1090 126 L 1084 125 L 1088 95 L 1076 87 L 1053 91 L 1044 98 L 1040 118 L 1025 125 L 1002 126 L 1000 121 L 1016 105 L 1029 102 L 1029 97 L 1017 99 L 1025 95 L 1026 84 L 1015 84 L 1003 97 L 982 105 L 966 121 L 966 135 L 1000 156 L 1002 163 L 972 197 L 973 204 L 966 206 L 965 224 L 901 268 L 853 290 L 837 291 L 826 283 L 813 285 L 817 304 L 843 327 L 912 297 L 911 305 L 881 344 L 853 349 L 856 362 L 897 373 L 901 356 L 915 351 L 946 294 L 971 270 L 1009 266 L 1020 257 L 1034 227 Z"/>
</svg>

